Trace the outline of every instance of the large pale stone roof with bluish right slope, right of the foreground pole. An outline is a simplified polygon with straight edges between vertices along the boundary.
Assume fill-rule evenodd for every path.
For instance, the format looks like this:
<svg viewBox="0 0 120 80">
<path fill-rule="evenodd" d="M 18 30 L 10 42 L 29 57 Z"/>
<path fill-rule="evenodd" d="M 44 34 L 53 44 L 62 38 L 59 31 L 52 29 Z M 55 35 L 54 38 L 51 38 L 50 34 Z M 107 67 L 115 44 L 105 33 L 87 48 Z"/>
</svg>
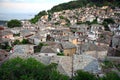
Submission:
<svg viewBox="0 0 120 80">
<path fill-rule="evenodd" d="M 74 71 L 82 69 L 91 73 L 98 73 L 100 65 L 92 56 L 74 55 Z"/>
</svg>

